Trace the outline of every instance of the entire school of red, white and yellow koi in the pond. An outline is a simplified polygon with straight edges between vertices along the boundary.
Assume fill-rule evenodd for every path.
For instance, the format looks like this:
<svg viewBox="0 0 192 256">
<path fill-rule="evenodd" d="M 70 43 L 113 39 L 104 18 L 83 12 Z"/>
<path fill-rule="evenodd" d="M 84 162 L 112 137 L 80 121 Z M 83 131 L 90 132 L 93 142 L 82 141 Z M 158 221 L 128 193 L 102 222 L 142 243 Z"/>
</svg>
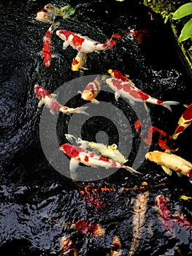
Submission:
<svg viewBox="0 0 192 256">
<path fill-rule="evenodd" d="M 70 18 L 74 12 L 75 10 L 70 6 L 55 7 L 54 4 L 47 4 L 42 8 L 42 10 L 37 12 L 35 20 L 41 21 L 42 23 L 51 24 L 47 29 L 45 36 L 43 37 L 43 48 L 41 56 L 45 67 L 50 67 L 51 60 L 55 56 L 51 50 L 52 37 L 54 36 L 53 32 L 59 26 L 59 23 L 55 22 L 55 19 Z M 131 31 L 130 34 L 134 36 L 139 44 L 142 44 L 142 37 L 144 37 L 148 32 L 149 31 L 147 29 L 139 31 L 134 30 Z M 112 34 L 110 39 L 107 39 L 104 42 L 98 42 L 85 35 L 81 35 L 77 32 L 68 31 L 65 29 L 59 29 L 55 32 L 55 34 L 64 41 L 63 50 L 66 50 L 68 46 L 71 46 L 74 50 L 77 50 L 77 56 L 72 59 L 72 71 L 74 72 L 79 70 L 88 70 L 87 60 L 89 53 L 101 53 L 105 52 L 106 50 L 110 50 L 114 48 L 115 45 L 117 45 L 117 42 L 120 41 L 122 37 L 120 34 Z M 131 104 L 134 104 L 134 102 L 142 102 L 145 105 L 147 111 L 149 111 L 147 103 L 161 105 L 170 111 L 172 111 L 172 105 L 177 106 L 180 104 L 180 102 L 174 100 L 163 101 L 161 99 L 156 99 L 150 96 L 145 91 L 137 88 L 137 86 L 131 81 L 128 75 L 123 75 L 117 69 L 108 69 L 107 72 L 111 75 L 111 78 L 107 78 L 107 75 L 96 76 L 95 80 L 88 83 L 82 91 L 77 91 L 83 100 L 99 104 L 99 100 L 96 99 L 96 97 L 98 97 L 99 92 L 101 91 L 102 84 L 105 83 L 110 87 L 110 89 L 112 89 L 112 91 L 115 92 L 115 99 L 117 101 L 119 97 L 123 97 L 128 99 Z M 67 115 L 72 113 L 82 113 L 88 115 L 88 113 L 85 112 L 88 107 L 69 108 L 61 105 L 56 99 L 57 95 L 51 94 L 42 86 L 37 84 L 34 85 L 34 93 L 37 99 L 39 99 L 38 108 L 40 108 L 42 105 L 45 105 L 50 109 L 50 113 L 52 114 L 61 112 Z M 145 158 L 150 162 L 155 162 L 155 164 L 161 165 L 163 170 L 168 175 L 172 175 L 172 170 L 174 170 L 178 176 L 187 176 L 188 178 L 192 178 L 192 163 L 188 162 L 188 160 L 183 159 L 182 157 L 177 156 L 177 154 L 173 154 L 177 149 L 174 148 L 174 146 L 172 147 L 167 145 L 167 138 L 171 142 L 172 139 L 177 140 L 178 136 L 182 134 L 182 132 L 192 122 L 192 104 L 186 106 L 185 108 L 186 109 L 183 112 L 183 115 L 180 117 L 176 124 L 176 128 L 172 136 L 166 135 L 166 132 L 158 129 L 157 127 L 150 127 L 148 138 L 144 139 L 146 143 L 149 145 L 151 144 L 150 138 L 152 137 L 153 132 L 158 132 L 161 137 L 164 137 L 164 139 L 158 139 L 158 146 L 161 148 L 161 151 L 149 151 L 145 155 Z M 141 126 L 142 123 L 139 120 L 134 123 L 134 127 L 137 132 L 139 132 Z M 103 143 L 96 143 L 93 141 L 75 138 L 74 135 L 66 135 L 66 139 L 69 140 L 69 143 L 62 144 L 58 149 L 64 152 L 66 156 L 70 157 L 69 170 L 74 184 L 76 184 L 75 172 L 80 163 L 91 167 L 124 168 L 131 173 L 141 174 L 137 170 L 134 170 L 132 167 L 124 165 L 126 162 L 128 162 L 128 159 L 126 159 L 126 157 L 124 157 L 123 154 L 118 150 L 118 146 L 116 144 L 104 145 Z M 72 143 L 73 139 L 78 146 Z M 139 192 L 134 198 L 132 214 L 132 241 L 128 256 L 132 256 L 137 252 L 140 240 L 142 238 L 142 230 L 145 225 L 148 200 L 150 196 L 149 187 L 150 186 L 148 186 L 147 182 L 143 181 L 142 186 L 139 189 L 145 189 L 145 191 Z M 82 198 L 85 199 L 85 202 L 93 206 L 96 211 L 105 207 L 101 200 L 87 195 L 86 192 L 82 192 L 82 189 L 80 189 L 78 185 L 77 188 L 79 189 Z M 115 189 L 112 188 L 105 189 L 106 191 L 115 191 Z M 124 188 L 122 191 L 126 190 L 128 189 Z M 184 195 L 182 197 L 183 200 L 191 199 L 191 197 L 186 197 Z M 158 195 L 155 197 L 154 204 L 158 213 L 158 219 L 160 220 L 161 225 L 165 230 L 168 230 L 170 233 L 174 233 L 174 223 L 177 223 L 177 225 L 182 228 L 185 227 L 191 229 L 191 223 L 188 221 L 188 219 L 178 214 L 172 214 L 164 195 Z M 69 228 L 75 229 L 77 232 L 85 234 L 86 236 L 104 236 L 105 233 L 104 228 L 100 224 L 88 222 L 84 219 L 79 219 L 77 222 L 70 223 L 70 225 L 69 223 L 62 223 L 61 221 L 55 219 L 50 220 L 55 224 L 65 225 Z M 61 237 L 60 252 L 60 256 L 79 255 L 78 246 L 69 236 Z M 114 236 L 112 239 L 110 252 L 107 253 L 107 256 L 121 255 L 123 255 L 123 252 L 120 238 L 118 236 Z"/>
</svg>

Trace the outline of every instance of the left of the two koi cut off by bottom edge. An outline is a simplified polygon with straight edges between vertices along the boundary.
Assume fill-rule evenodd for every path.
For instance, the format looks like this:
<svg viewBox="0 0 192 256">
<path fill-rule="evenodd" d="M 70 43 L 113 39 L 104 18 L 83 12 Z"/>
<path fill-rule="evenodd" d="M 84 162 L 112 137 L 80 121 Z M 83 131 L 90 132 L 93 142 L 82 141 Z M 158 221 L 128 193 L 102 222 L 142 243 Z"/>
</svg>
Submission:
<svg viewBox="0 0 192 256">
<path fill-rule="evenodd" d="M 78 256 L 79 252 L 77 250 L 77 246 L 74 244 L 74 241 L 72 241 L 67 236 L 62 236 L 61 242 L 60 242 L 60 251 L 61 254 L 59 256 Z"/>
</svg>

